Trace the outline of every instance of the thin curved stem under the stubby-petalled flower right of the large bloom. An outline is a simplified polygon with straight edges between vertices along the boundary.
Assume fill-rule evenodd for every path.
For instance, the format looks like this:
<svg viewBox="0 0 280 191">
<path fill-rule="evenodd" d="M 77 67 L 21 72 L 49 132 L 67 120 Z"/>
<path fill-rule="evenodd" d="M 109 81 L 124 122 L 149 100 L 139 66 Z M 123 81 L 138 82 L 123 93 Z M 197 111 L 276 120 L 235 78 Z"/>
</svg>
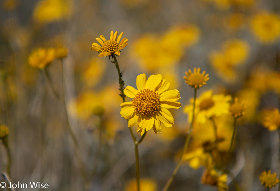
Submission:
<svg viewBox="0 0 280 191">
<path fill-rule="evenodd" d="M 195 117 L 195 100 L 196 100 L 196 93 L 197 93 L 197 88 L 195 88 L 195 95 L 194 95 L 194 101 L 193 101 L 193 108 L 192 108 L 192 122 L 191 122 L 191 125 L 190 125 L 190 130 L 187 134 L 187 137 L 186 137 L 186 141 L 185 141 L 185 145 L 184 145 L 184 149 L 183 149 L 183 152 L 180 156 L 180 159 L 179 159 L 179 162 L 177 163 L 177 166 L 175 167 L 171 177 L 169 178 L 169 180 L 167 181 L 166 185 L 164 186 L 163 190 L 162 191 L 167 191 L 167 189 L 169 188 L 169 186 L 171 185 L 171 183 L 173 182 L 174 180 L 174 177 L 175 175 L 177 174 L 179 168 L 181 167 L 181 164 L 183 162 L 183 156 L 189 146 L 189 142 L 190 142 L 190 138 L 191 138 L 191 133 L 192 133 L 192 129 L 193 129 L 193 122 L 194 122 L 194 117 Z"/>
</svg>

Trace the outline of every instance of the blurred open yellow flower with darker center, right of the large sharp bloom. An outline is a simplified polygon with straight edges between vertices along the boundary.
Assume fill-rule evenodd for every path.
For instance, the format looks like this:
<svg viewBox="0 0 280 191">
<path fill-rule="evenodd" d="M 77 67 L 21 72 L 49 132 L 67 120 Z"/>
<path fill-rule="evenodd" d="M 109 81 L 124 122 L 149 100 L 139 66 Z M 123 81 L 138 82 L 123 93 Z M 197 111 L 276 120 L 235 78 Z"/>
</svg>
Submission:
<svg viewBox="0 0 280 191">
<path fill-rule="evenodd" d="M 190 100 L 190 105 L 185 106 L 184 113 L 189 115 L 189 122 L 192 120 L 193 101 Z M 206 91 L 195 101 L 195 120 L 200 124 L 205 124 L 210 117 L 219 117 L 229 113 L 230 95 L 213 95 L 213 90 Z"/>
</svg>

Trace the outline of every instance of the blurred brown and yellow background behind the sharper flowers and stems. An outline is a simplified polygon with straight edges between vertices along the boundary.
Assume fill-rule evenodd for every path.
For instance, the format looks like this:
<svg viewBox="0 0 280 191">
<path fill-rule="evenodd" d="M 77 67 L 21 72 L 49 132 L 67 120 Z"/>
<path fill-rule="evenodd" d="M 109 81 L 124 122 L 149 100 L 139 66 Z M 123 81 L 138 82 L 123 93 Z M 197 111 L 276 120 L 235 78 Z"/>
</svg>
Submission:
<svg viewBox="0 0 280 191">
<path fill-rule="evenodd" d="M 111 30 L 124 32 L 123 38 L 129 39 L 118 57 L 125 85 L 136 88 L 141 73 L 162 74 L 171 83 L 169 89 L 181 93 L 182 108 L 170 109 L 174 125 L 162 126 L 161 134 L 148 131 L 139 146 L 142 190 L 161 190 L 177 163 L 190 125 L 184 107 L 193 97 L 183 76 L 194 67 L 210 77 L 198 97 L 213 90 L 246 104 L 228 165 L 241 190 L 266 190 L 259 181 L 261 172 L 271 169 L 279 174 L 279 134 L 263 127 L 266 112 L 280 106 L 279 0 L 0 3 L 0 121 L 9 128 L 13 182 L 40 181 L 50 190 L 84 190 L 63 104 L 46 73 L 28 62 L 37 48 L 63 46 L 67 49 L 63 71 L 57 59 L 45 70 L 60 96 L 64 89 L 90 190 L 136 190 L 133 141 L 119 114 L 117 70 L 107 57 L 90 50 L 96 37 L 108 39 Z M 224 140 L 218 151 L 223 154 L 229 148 L 233 120 L 217 121 L 222 121 L 217 126 Z M 188 152 L 195 150 L 197 139 L 211 139 L 210 126 L 197 127 Z M 136 128 L 132 130 L 139 139 Z M 1 172 L 6 171 L 7 160 L 1 145 Z M 217 190 L 201 184 L 204 169 L 185 161 L 169 190 Z M 235 189 L 232 182 L 229 188 Z M 278 185 L 271 190 L 277 189 Z"/>
</svg>

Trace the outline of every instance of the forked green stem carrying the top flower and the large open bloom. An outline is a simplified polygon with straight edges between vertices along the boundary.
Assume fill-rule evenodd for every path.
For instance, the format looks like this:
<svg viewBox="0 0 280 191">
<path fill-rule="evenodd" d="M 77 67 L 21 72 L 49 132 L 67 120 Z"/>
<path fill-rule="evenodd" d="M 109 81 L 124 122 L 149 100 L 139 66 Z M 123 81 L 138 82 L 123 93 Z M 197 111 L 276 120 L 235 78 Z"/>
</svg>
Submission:
<svg viewBox="0 0 280 191">
<path fill-rule="evenodd" d="M 122 80 L 122 73 L 121 73 L 121 70 L 120 70 L 120 67 L 118 65 L 118 60 L 116 58 L 116 55 L 113 55 L 113 58 L 114 58 L 114 63 L 116 65 L 116 68 L 118 70 L 118 83 L 120 85 L 120 88 L 119 90 L 121 91 L 121 98 L 123 99 L 123 102 L 126 102 L 125 101 L 125 95 L 124 95 L 124 92 L 123 92 L 123 86 L 124 86 L 124 82 Z M 128 120 L 127 120 L 128 122 Z M 131 127 L 129 127 L 129 132 L 131 134 L 131 137 L 133 139 L 133 143 L 134 143 L 134 149 L 135 149 L 135 173 L 136 173 L 136 183 L 137 183 L 137 190 L 140 191 L 140 170 L 139 170 L 139 152 L 138 152 L 138 145 L 143 141 L 145 135 L 146 135 L 146 132 L 144 133 L 144 135 L 142 135 L 141 139 L 137 142 L 136 141 L 136 138 L 132 132 L 132 129 Z"/>
</svg>

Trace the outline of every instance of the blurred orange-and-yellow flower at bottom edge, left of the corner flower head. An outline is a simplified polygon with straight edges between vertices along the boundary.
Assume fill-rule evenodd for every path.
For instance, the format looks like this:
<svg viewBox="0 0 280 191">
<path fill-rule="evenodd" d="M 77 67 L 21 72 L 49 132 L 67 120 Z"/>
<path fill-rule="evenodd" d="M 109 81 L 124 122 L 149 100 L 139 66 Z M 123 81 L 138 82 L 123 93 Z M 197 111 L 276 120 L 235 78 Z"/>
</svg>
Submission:
<svg viewBox="0 0 280 191">
<path fill-rule="evenodd" d="M 227 174 L 218 173 L 215 169 L 206 169 L 201 177 L 201 183 L 205 185 L 217 186 L 219 191 L 228 190 Z"/>
</svg>

